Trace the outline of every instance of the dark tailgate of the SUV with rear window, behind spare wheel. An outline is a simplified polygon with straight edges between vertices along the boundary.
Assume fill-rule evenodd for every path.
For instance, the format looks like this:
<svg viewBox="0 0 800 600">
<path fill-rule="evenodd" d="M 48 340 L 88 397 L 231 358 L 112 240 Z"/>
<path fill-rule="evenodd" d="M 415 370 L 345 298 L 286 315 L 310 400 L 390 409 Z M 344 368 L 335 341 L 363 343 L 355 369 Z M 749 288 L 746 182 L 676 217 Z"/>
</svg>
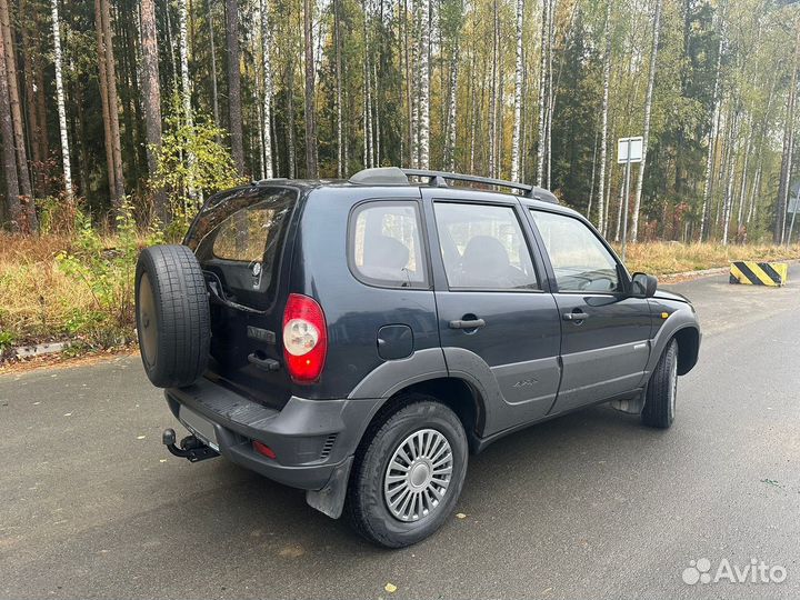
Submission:
<svg viewBox="0 0 800 600">
<path fill-rule="evenodd" d="M 210 292 L 211 360 L 206 376 L 274 408 L 282 408 L 290 396 L 278 336 L 297 202 L 293 189 L 241 188 L 210 202 L 186 239 Z"/>
</svg>

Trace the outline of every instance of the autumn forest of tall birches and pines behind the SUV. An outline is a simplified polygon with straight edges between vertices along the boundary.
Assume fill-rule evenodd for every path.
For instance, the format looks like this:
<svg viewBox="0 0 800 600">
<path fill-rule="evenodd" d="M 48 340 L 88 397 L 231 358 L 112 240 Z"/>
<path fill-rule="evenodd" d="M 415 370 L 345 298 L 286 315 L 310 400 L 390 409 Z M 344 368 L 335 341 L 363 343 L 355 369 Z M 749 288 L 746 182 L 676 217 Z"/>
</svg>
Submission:
<svg viewBox="0 0 800 600">
<path fill-rule="evenodd" d="M 0 21 L 11 231 L 396 164 L 543 186 L 613 239 L 626 203 L 631 241 L 793 234 L 789 1 L 0 0 Z"/>
</svg>

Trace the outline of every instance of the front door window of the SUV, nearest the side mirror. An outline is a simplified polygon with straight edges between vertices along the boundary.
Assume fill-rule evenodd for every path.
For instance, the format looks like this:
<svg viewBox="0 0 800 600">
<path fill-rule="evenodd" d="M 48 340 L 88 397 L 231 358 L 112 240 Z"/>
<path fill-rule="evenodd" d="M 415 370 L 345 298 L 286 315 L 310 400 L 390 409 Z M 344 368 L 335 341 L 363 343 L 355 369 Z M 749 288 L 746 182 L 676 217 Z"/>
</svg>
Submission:
<svg viewBox="0 0 800 600">
<path fill-rule="evenodd" d="M 559 291 L 621 291 L 617 261 L 586 223 L 552 212 L 531 211 L 556 272 Z"/>
</svg>

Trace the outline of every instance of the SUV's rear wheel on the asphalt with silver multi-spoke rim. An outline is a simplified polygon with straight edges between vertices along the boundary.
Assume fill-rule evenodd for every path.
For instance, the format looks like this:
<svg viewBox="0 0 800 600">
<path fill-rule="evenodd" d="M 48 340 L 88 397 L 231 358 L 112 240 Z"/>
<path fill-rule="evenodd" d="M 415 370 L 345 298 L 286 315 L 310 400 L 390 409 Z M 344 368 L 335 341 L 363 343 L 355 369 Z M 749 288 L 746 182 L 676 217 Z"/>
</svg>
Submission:
<svg viewBox="0 0 800 600">
<path fill-rule="evenodd" d="M 447 447 L 442 440 L 447 441 Z M 404 446 L 407 443 L 411 447 Z M 428 447 L 432 447 L 428 451 L 430 456 L 426 456 Z M 416 466 L 407 471 L 406 481 L 393 481 L 391 478 L 406 476 L 394 469 L 390 471 L 390 464 L 398 466 L 396 457 L 398 461 L 407 462 L 399 453 L 402 449 L 408 458 L 413 458 L 410 448 L 421 449 L 409 464 Z M 444 476 L 437 469 L 442 469 L 441 464 L 447 466 L 448 461 L 437 454 L 443 451 L 447 456 L 448 450 L 451 457 L 449 479 L 439 494 L 437 482 L 442 479 L 438 478 Z M 468 453 L 467 434 L 452 410 L 429 396 L 404 397 L 398 410 L 378 419 L 368 429 L 356 452 L 344 507 L 350 523 L 361 536 L 386 548 L 403 548 L 426 539 L 444 523 L 456 507 L 467 473 Z M 434 459 L 434 462 L 420 467 L 428 459 Z M 433 467 L 432 471 L 430 467 Z M 426 483 L 426 473 L 437 477 Z M 398 486 L 404 486 L 406 491 L 398 491 Z M 416 494 L 411 504 L 418 510 L 401 511 L 406 502 L 401 500 L 394 509 L 400 514 L 393 513 L 387 498 L 397 501 L 403 493 Z M 432 501 L 437 503 L 432 504 Z M 407 519 L 403 519 L 404 513 L 408 513 Z"/>
</svg>

